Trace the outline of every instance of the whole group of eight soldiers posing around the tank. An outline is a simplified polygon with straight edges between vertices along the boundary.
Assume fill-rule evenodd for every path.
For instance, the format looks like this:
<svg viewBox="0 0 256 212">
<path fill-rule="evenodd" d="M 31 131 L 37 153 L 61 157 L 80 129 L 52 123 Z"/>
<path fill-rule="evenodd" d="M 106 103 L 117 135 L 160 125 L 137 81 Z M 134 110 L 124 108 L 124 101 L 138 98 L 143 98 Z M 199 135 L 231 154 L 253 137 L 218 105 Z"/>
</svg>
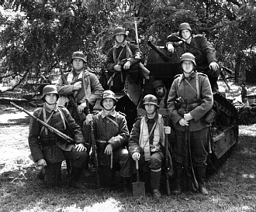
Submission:
<svg viewBox="0 0 256 212">
<path fill-rule="evenodd" d="M 107 53 L 106 61 L 109 77 L 112 77 L 111 90 L 104 91 L 98 77 L 88 70 L 86 57 L 81 52 L 72 54 L 72 69 L 59 77 L 56 85 L 43 88 L 43 107 L 37 108 L 33 115 L 74 138 L 74 143 L 67 142 L 38 121 L 30 121 L 29 148 L 33 160 L 38 166 L 43 166 L 43 180 L 50 186 L 59 185 L 61 162 L 68 159 L 71 164 L 70 186 L 85 189 L 79 180 L 83 169 L 88 169 L 92 146 L 90 133 L 93 132 L 99 164 L 119 166 L 123 190 L 130 190 L 134 161 L 139 161 L 140 166 L 149 170 L 152 195 L 159 199 L 164 141 L 171 132 L 175 132 L 171 158 L 175 170 L 173 193 L 178 195 L 183 191 L 182 179 L 187 172 L 186 132 L 189 133 L 189 151 L 199 184 L 198 191 L 207 195 L 204 182 L 210 124 L 203 121 L 203 117 L 212 108 L 213 91 L 217 89 L 218 65 L 213 46 L 204 36 L 192 35 L 189 23 L 182 23 L 178 34 L 168 36 L 166 48 L 169 51 L 176 49 L 180 54 L 183 73 L 175 77 L 170 90 L 166 89 L 162 80 L 154 81 L 155 93 L 143 98 L 142 107 L 146 113 L 134 120 L 129 132 L 126 115 L 115 110 L 117 100 L 114 92 L 126 88 L 128 74 L 137 78 L 136 70 L 142 61 L 142 53 L 136 44 L 126 41 L 126 32 L 122 27 L 114 30 L 113 41 L 115 45 Z M 89 113 L 99 97 L 102 111 Z M 171 127 L 157 111 L 159 108 L 168 109 Z"/>
</svg>

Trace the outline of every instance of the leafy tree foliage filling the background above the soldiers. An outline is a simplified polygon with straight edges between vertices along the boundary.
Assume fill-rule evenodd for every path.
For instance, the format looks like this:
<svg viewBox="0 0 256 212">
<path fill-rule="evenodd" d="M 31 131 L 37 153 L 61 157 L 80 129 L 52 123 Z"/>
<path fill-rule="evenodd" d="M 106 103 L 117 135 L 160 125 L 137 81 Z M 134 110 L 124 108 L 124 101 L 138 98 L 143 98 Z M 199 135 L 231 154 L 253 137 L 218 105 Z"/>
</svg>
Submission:
<svg viewBox="0 0 256 212">
<path fill-rule="evenodd" d="M 0 82 L 3 77 L 16 76 L 19 76 L 17 85 L 22 80 L 43 79 L 57 67 L 56 56 L 62 67 L 68 69 L 71 53 L 76 50 L 86 53 L 88 66 L 99 75 L 105 70 L 106 53 L 112 46 L 112 30 L 123 26 L 129 31 L 128 39 L 135 41 L 135 19 L 145 59 L 149 50 L 147 41 L 164 46 L 166 36 L 177 32 L 182 22 L 189 22 L 195 33 L 205 33 L 216 47 L 219 62 L 237 73 L 240 69 L 250 69 L 251 58 L 254 59 L 255 12 L 231 2 L 180 2 L 175 7 L 166 1 L 144 0 L 120 4 L 114 1 L 90 4 L 3 1 L 1 4 Z"/>
</svg>

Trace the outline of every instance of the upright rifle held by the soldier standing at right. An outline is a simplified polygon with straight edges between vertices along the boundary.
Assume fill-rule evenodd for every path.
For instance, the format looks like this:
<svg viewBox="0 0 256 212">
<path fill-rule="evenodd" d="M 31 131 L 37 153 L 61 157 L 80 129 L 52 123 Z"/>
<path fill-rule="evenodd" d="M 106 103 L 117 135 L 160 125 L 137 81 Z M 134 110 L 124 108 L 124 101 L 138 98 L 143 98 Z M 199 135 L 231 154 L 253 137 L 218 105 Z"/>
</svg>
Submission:
<svg viewBox="0 0 256 212">
<path fill-rule="evenodd" d="M 185 113 L 189 113 L 188 108 L 188 100 L 185 100 Z M 190 163 L 190 167 L 189 167 Z M 192 176 L 190 173 L 190 169 L 192 172 Z M 185 125 L 185 181 L 187 189 L 189 190 L 199 190 L 199 183 L 197 182 L 195 178 L 195 171 L 192 165 L 192 158 L 191 158 L 191 148 L 190 148 L 190 135 L 189 135 L 189 126 Z M 190 180 L 192 179 L 192 182 Z M 191 186 L 192 185 L 192 186 Z"/>
</svg>

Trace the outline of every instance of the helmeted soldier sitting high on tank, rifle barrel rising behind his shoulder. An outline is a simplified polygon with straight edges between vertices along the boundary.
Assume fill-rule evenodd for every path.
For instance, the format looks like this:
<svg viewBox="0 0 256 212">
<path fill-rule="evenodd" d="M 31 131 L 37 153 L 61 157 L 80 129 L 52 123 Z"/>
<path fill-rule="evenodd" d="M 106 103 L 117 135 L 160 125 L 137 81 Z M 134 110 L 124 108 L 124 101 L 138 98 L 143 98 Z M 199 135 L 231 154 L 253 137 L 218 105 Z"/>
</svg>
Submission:
<svg viewBox="0 0 256 212">
<path fill-rule="evenodd" d="M 106 68 L 110 74 L 109 86 L 112 91 L 122 91 L 126 74 L 138 80 L 139 63 L 142 53 L 139 47 L 126 41 L 126 31 L 123 27 L 116 27 L 112 36 L 115 45 L 108 51 Z"/>
</svg>

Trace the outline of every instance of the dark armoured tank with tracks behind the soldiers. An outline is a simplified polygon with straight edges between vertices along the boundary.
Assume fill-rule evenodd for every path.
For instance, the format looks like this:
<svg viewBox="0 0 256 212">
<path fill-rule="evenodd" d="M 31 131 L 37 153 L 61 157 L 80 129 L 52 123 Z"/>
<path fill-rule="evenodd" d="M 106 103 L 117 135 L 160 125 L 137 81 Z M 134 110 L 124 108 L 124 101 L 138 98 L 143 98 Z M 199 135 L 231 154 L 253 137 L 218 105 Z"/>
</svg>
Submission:
<svg viewBox="0 0 256 212">
<path fill-rule="evenodd" d="M 150 79 L 144 80 L 144 85 L 140 89 L 133 89 L 133 95 L 140 98 L 135 102 L 129 95 L 119 98 L 116 105 L 117 111 L 126 114 L 128 128 L 131 130 L 135 119 L 144 115 L 141 99 L 146 94 L 154 94 L 152 82 L 154 80 L 163 80 L 164 86 L 169 89 L 176 74 L 182 74 L 180 60 L 175 53 L 169 53 L 164 46 L 154 46 L 148 42 L 151 47 L 147 56 L 147 69 L 150 70 Z M 226 81 L 227 82 L 227 81 Z M 238 142 L 238 114 L 234 105 L 225 97 L 225 94 L 213 94 L 213 110 L 216 111 L 216 117 L 209 128 L 209 168 L 214 166 L 225 156 L 230 149 Z"/>
</svg>

